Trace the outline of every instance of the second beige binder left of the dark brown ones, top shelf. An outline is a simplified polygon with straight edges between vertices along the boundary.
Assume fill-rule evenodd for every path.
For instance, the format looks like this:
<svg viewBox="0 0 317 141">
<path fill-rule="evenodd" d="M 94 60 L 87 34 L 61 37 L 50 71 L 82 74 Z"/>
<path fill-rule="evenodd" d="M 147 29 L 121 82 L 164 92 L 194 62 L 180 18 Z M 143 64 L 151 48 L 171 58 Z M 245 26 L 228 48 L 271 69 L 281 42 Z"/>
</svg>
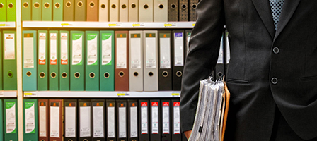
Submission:
<svg viewBox="0 0 317 141">
<path fill-rule="evenodd" d="M 139 22 L 153 22 L 153 0 L 139 0 Z"/>
</svg>

